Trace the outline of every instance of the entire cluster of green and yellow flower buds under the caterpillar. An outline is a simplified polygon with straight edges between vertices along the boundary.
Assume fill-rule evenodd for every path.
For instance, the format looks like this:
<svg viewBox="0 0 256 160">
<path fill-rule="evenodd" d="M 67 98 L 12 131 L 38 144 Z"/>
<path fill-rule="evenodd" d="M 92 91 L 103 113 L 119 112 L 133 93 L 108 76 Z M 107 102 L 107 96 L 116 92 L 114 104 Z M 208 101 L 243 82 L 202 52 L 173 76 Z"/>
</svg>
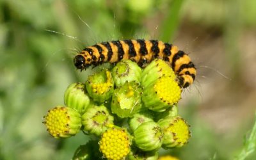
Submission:
<svg viewBox="0 0 256 160">
<path fill-rule="evenodd" d="M 123 60 L 70 84 L 65 105 L 50 109 L 44 124 L 54 138 L 79 131 L 97 137 L 77 148 L 73 159 L 157 159 L 159 148 L 182 147 L 190 138 L 178 115 L 181 92 L 165 61 L 140 68 Z"/>
</svg>

